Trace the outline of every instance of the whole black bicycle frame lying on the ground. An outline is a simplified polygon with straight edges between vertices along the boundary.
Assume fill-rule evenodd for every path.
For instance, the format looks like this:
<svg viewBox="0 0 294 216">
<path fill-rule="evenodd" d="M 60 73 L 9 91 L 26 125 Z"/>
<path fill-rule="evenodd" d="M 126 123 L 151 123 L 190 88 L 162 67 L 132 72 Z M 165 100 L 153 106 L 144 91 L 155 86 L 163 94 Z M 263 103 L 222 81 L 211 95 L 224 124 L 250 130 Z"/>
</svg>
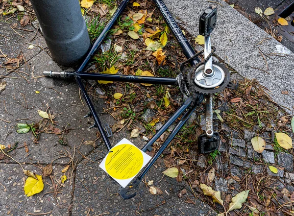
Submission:
<svg viewBox="0 0 294 216">
<path fill-rule="evenodd" d="M 164 4 L 162 0 L 153 0 L 156 7 L 161 12 L 166 24 L 170 28 L 174 38 L 176 39 L 177 43 L 183 50 L 183 53 L 187 58 L 193 57 L 196 52 L 194 48 L 190 45 L 187 38 L 181 31 L 178 24 L 175 22 L 174 18 L 172 17 L 171 13 L 169 12 L 168 8 Z M 119 75 L 119 74 L 102 74 L 102 73 L 87 73 L 84 72 L 86 69 L 86 66 L 88 65 L 89 61 L 94 56 L 97 49 L 101 46 L 104 39 L 106 38 L 109 30 L 112 28 L 112 26 L 115 24 L 117 19 L 122 15 L 124 9 L 126 8 L 129 0 L 123 0 L 120 6 L 118 7 L 116 13 L 113 15 L 110 22 L 106 25 L 104 30 L 101 32 L 95 43 L 93 44 L 93 47 L 91 48 L 90 52 L 88 53 L 87 57 L 83 61 L 83 63 L 80 65 L 78 70 L 76 72 L 64 72 L 64 77 L 67 78 L 75 78 L 78 86 L 80 87 L 80 90 L 82 92 L 82 96 L 84 97 L 89 109 L 90 109 L 90 115 L 88 117 L 93 117 L 95 124 L 94 127 L 98 128 L 98 131 L 101 134 L 101 138 L 103 142 L 105 143 L 108 150 L 112 148 L 111 143 L 107 137 L 107 134 L 105 130 L 103 129 L 102 123 L 98 118 L 98 115 L 95 111 L 95 107 L 90 99 L 90 97 L 87 94 L 87 91 L 85 87 L 83 86 L 82 80 L 104 80 L 104 81 L 117 81 L 117 82 L 130 82 L 130 83 L 149 83 L 149 84 L 161 84 L 161 85 L 178 85 L 176 78 L 166 78 L 166 77 L 152 77 L 152 76 L 134 76 L 134 75 Z M 195 65 L 199 62 L 199 59 L 196 57 L 194 58 L 190 63 L 192 65 Z M 52 76 L 58 76 L 54 75 L 52 73 Z M 59 75 L 60 76 L 60 75 Z M 159 150 L 155 153 L 154 157 L 149 161 L 146 168 L 141 172 L 139 177 L 130 185 L 138 186 L 138 184 L 141 182 L 142 178 L 145 176 L 147 171 L 152 167 L 154 162 L 157 160 L 157 158 L 162 154 L 164 149 L 171 143 L 172 139 L 176 136 L 178 131 L 181 129 L 181 127 L 185 124 L 185 122 L 190 118 L 194 110 L 196 109 L 196 105 L 193 104 L 193 96 L 188 97 L 188 99 L 177 109 L 177 111 L 172 115 L 172 117 L 167 120 L 167 122 L 160 128 L 160 130 L 153 136 L 153 138 L 150 139 L 150 141 L 142 148 L 142 151 L 151 151 L 152 144 L 172 125 L 173 122 L 175 122 L 185 111 L 188 109 L 188 111 L 184 114 L 184 116 L 181 118 L 181 120 L 177 123 L 175 128 L 172 130 L 164 144 L 161 145 Z M 199 102 L 199 101 L 198 101 Z M 131 198 L 134 194 L 127 195 L 128 192 L 135 189 L 136 187 L 127 186 L 125 189 L 122 187 L 120 188 L 119 192 L 122 195 L 123 199 Z"/>
</svg>

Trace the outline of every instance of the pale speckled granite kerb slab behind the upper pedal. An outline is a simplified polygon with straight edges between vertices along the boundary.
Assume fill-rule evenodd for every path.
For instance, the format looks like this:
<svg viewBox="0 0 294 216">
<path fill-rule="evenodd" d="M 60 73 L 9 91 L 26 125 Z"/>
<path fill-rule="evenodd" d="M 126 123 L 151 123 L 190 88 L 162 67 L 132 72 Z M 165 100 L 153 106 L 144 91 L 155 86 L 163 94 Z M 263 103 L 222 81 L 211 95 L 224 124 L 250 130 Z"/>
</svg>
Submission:
<svg viewBox="0 0 294 216">
<path fill-rule="evenodd" d="M 273 101 L 293 114 L 294 53 L 271 38 L 222 0 L 165 0 L 174 17 L 193 35 L 198 35 L 199 16 L 208 6 L 218 7 L 218 24 L 212 33 L 216 54 L 243 77 L 256 79 L 270 90 Z M 269 40 L 264 39 L 270 38 Z M 262 43 L 261 43 L 262 42 Z M 266 54 L 266 60 L 260 54 Z M 273 54 L 270 53 L 286 53 Z M 267 69 L 267 65 L 269 69 Z M 258 69 L 254 69 L 258 68 Z M 261 71 L 265 70 L 267 72 Z M 288 91 L 290 95 L 282 95 Z"/>
</svg>

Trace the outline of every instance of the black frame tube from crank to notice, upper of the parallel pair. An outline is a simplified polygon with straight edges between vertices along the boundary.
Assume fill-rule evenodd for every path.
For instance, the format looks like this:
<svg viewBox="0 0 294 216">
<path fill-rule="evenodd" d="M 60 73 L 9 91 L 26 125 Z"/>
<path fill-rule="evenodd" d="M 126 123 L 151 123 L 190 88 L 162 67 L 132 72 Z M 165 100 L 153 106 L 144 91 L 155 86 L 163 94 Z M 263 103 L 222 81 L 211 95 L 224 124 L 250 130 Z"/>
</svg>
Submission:
<svg viewBox="0 0 294 216">
<path fill-rule="evenodd" d="M 157 133 L 149 140 L 149 142 L 142 148 L 142 151 L 152 150 L 151 145 L 172 125 L 172 123 L 179 118 L 180 115 L 191 105 L 193 96 L 188 99 L 180 106 L 177 111 L 169 118 L 169 120 L 157 131 Z"/>
</svg>

